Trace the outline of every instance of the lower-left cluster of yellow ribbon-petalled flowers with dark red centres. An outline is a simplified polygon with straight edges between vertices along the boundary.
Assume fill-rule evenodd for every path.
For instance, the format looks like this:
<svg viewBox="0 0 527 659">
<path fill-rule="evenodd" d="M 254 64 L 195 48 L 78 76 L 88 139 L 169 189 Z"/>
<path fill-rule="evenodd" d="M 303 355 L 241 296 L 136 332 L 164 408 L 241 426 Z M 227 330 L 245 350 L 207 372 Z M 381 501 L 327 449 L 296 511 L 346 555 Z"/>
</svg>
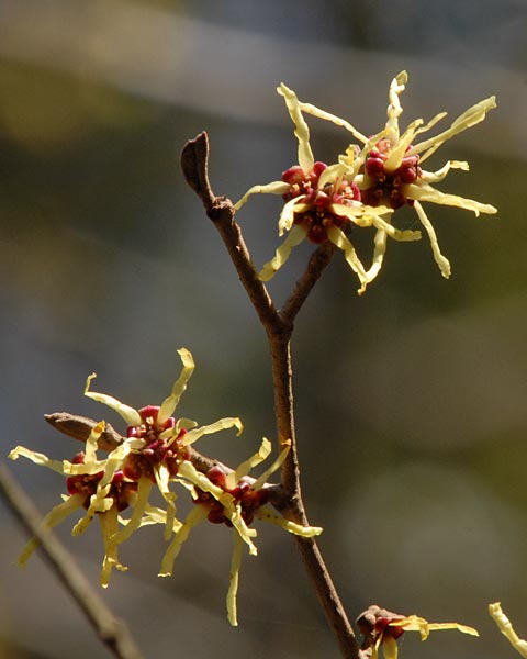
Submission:
<svg viewBox="0 0 527 659">
<path fill-rule="evenodd" d="M 224 523 L 234 530 L 234 552 L 231 569 L 231 585 L 227 595 L 228 619 L 237 624 L 236 592 L 244 544 L 249 554 L 256 555 L 253 541 L 257 532 L 250 528 L 256 518 L 282 526 L 285 530 L 304 537 L 312 537 L 322 528 L 301 526 L 284 520 L 269 506 L 268 478 L 281 466 L 289 451 L 287 445 L 272 466 L 259 478 L 249 478 L 249 471 L 271 453 L 271 444 L 264 439 L 257 454 L 234 471 L 215 466 L 206 473 L 192 463 L 191 445 L 203 435 L 223 429 L 236 428 L 238 435 L 243 425 L 237 417 L 221 418 L 215 423 L 198 426 L 189 418 L 176 418 L 173 413 L 194 369 L 192 355 L 186 348 L 178 350 L 183 368 L 175 382 L 170 395 L 160 406 L 148 405 L 135 410 L 104 393 L 90 391 L 96 377 L 89 376 L 85 394 L 114 410 L 126 422 L 126 438 L 123 438 L 105 458 L 98 457 L 99 439 L 105 429 L 101 421 L 90 432 L 85 450 L 69 460 L 53 460 L 47 456 L 23 446 L 14 448 L 9 457 L 25 457 L 66 477 L 67 494 L 43 520 L 43 528 L 53 528 L 76 511 L 86 511 L 74 526 L 72 535 L 82 534 L 97 516 L 100 522 L 104 544 L 104 558 L 100 582 L 106 588 L 113 568 L 126 570 L 121 563 L 117 550 L 138 528 L 149 524 L 162 524 L 168 549 L 161 561 L 160 576 L 172 572 L 173 560 L 190 529 L 198 523 L 209 520 Z M 182 485 L 190 492 L 194 506 L 184 522 L 177 518 L 177 495 L 173 484 Z M 156 485 L 161 493 L 165 506 L 149 503 L 150 492 Z M 122 513 L 130 509 L 130 516 Z M 19 563 L 24 567 L 38 543 L 31 539 L 24 547 Z"/>
</svg>

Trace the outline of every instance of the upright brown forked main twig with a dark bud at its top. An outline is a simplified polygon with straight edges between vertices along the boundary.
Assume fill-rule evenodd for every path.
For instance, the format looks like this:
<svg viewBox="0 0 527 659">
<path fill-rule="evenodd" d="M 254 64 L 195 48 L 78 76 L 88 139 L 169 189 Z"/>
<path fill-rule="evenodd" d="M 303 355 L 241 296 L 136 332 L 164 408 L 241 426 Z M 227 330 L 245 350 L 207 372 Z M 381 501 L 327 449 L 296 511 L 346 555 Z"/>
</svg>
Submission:
<svg viewBox="0 0 527 659">
<path fill-rule="evenodd" d="M 234 206 L 224 197 L 215 197 L 208 172 L 209 141 L 201 133 L 187 143 L 181 155 L 184 177 L 203 202 L 208 216 L 214 222 L 231 255 L 239 279 L 266 328 L 271 353 L 274 384 L 274 410 L 279 442 L 291 442 L 291 450 L 282 466 L 282 488 L 285 499 L 279 503 L 282 513 L 301 524 L 307 525 L 302 502 L 300 470 L 294 434 L 292 392 L 291 335 L 293 321 L 305 302 L 314 283 L 329 263 L 334 248 L 322 246 L 312 256 L 305 273 L 298 281 L 293 293 L 278 312 L 272 300 L 258 279 L 250 255 L 243 241 L 242 230 L 234 221 Z M 328 623 L 337 637 L 343 657 L 358 659 L 361 656 L 338 593 L 326 569 L 319 549 L 313 538 L 295 536 L 307 573 L 324 607 Z"/>
</svg>

